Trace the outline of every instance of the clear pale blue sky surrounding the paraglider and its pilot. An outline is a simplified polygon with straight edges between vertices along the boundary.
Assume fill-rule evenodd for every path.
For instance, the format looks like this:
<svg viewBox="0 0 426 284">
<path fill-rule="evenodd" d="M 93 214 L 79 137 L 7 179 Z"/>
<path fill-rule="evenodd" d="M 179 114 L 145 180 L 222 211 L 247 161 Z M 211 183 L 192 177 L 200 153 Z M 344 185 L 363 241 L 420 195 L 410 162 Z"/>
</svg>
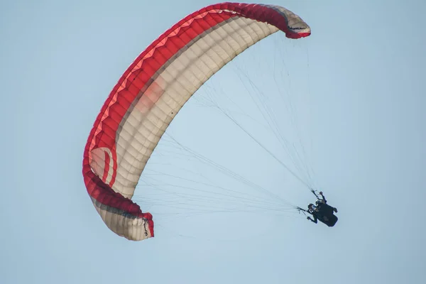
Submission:
<svg viewBox="0 0 426 284">
<path fill-rule="evenodd" d="M 0 283 L 424 283 L 420 0 L 268 2 L 312 35 L 246 50 L 176 116 L 135 194 L 155 238 L 128 241 L 104 225 L 82 180 L 94 119 L 149 43 L 212 3 L 1 1 Z M 288 211 L 314 196 L 214 107 L 302 177 L 262 129 L 271 112 L 253 104 L 259 94 L 339 209 L 333 228 Z"/>
</svg>

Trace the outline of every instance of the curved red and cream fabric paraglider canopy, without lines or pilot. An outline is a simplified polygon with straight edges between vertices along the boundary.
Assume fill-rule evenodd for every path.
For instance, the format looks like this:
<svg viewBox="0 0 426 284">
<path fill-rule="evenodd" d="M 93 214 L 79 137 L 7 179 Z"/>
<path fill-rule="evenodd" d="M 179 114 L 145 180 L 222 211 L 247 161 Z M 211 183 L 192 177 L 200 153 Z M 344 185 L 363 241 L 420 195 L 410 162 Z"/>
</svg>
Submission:
<svg viewBox="0 0 426 284">
<path fill-rule="evenodd" d="M 111 231 L 134 241 L 154 236 L 153 216 L 131 198 L 155 147 L 204 82 L 277 31 L 290 39 L 311 33 L 281 6 L 214 4 L 183 18 L 138 55 L 109 94 L 84 148 L 84 183 Z"/>
</svg>

